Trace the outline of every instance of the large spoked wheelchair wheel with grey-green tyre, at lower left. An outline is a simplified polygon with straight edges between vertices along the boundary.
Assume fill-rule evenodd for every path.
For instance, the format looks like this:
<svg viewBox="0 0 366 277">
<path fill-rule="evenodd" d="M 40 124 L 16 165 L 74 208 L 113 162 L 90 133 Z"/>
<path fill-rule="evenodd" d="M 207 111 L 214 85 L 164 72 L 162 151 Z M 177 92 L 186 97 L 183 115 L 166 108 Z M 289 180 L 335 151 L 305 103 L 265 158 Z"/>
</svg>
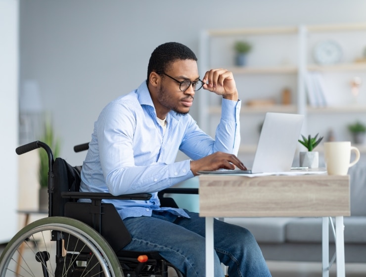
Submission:
<svg viewBox="0 0 366 277">
<path fill-rule="evenodd" d="M 118 258 L 95 230 L 48 217 L 20 230 L 0 257 L 0 277 L 123 277 Z"/>
</svg>

